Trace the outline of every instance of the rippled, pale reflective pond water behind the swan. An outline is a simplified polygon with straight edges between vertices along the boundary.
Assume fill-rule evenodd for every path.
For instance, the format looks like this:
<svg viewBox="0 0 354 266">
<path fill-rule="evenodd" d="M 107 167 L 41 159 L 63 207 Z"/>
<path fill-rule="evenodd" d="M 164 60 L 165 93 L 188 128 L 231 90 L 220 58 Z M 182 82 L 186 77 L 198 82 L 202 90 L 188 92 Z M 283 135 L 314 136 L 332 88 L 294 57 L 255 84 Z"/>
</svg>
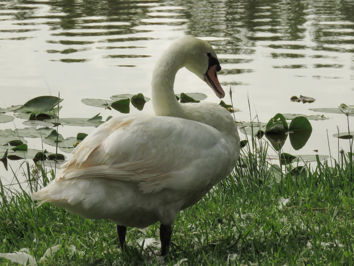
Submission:
<svg viewBox="0 0 354 266">
<path fill-rule="evenodd" d="M 349 150 L 348 140 L 332 137 L 337 126 L 340 132 L 347 130 L 347 118 L 309 109 L 354 105 L 354 0 L 2 1 L 0 107 L 60 93 L 60 117 L 101 113 L 105 120 L 118 115 L 81 99 L 109 100 L 122 93 L 151 97 L 158 56 L 185 35 L 215 48 L 222 66 L 219 81 L 225 90 L 232 86 L 234 107 L 241 110 L 236 120 L 258 115 L 266 123 L 276 113 L 324 114 L 331 119 L 310 121 L 313 132 L 304 148 L 296 151 L 286 143 L 283 151 L 329 155 L 329 146 L 334 154 L 338 146 Z M 187 70 L 177 74 L 175 92 L 205 93 L 208 101 L 219 102 Z M 292 102 L 293 95 L 316 100 Z M 229 96 L 224 101 L 230 103 Z M 153 112 L 150 102 L 143 112 Z M 353 119 L 349 117 L 352 131 Z M 16 118 L 0 129 L 26 127 L 23 121 Z M 66 138 L 93 129 L 66 126 L 58 131 Z M 40 139 L 27 140 L 29 148 L 41 149 Z M 19 164 L 11 162 L 22 172 Z M 3 182 L 11 183 L 10 172 L 0 166 Z"/>
</svg>

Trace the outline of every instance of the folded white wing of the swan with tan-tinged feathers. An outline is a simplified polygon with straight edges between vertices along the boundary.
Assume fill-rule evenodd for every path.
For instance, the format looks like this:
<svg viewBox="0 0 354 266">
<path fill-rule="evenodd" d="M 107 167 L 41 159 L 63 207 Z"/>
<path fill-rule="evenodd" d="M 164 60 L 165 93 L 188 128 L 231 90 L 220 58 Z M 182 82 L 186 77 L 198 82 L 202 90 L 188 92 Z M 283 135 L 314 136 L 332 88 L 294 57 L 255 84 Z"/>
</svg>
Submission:
<svg viewBox="0 0 354 266">
<path fill-rule="evenodd" d="M 164 116 L 112 118 L 74 152 L 57 180 L 113 178 L 136 182 L 145 193 L 214 183 L 231 153 L 215 128 Z"/>
</svg>

